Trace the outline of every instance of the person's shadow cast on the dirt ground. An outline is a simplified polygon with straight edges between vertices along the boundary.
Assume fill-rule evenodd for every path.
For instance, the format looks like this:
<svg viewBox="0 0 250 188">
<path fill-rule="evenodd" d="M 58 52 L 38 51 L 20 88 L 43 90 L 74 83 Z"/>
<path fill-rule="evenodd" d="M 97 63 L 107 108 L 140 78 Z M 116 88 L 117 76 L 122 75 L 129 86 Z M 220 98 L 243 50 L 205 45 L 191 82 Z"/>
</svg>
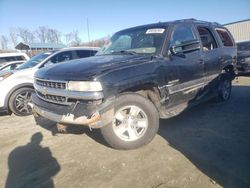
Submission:
<svg viewBox="0 0 250 188">
<path fill-rule="evenodd" d="M 54 187 L 52 177 L 60 171 L 60 165 L 50 149 L 40 145 L 42 139 L 40 132 L 35 133 L 30 143 L 10 153 L 6 188 Z"/>
</svg>

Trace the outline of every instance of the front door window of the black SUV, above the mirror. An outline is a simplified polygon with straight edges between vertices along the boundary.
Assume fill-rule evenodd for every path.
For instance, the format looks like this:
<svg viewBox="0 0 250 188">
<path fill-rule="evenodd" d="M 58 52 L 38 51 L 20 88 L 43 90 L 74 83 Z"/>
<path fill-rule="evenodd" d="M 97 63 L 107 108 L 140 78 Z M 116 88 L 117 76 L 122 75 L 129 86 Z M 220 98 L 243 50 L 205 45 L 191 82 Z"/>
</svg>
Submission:
<svg viewBox="0 0 250 188">
<path fill-rule="evenodd" d="M 177 25 L 172 32 L 170 46 L 176 46 L 192 40 L 196 40 L 192 28 L 187 25 Z"/>
</svg>

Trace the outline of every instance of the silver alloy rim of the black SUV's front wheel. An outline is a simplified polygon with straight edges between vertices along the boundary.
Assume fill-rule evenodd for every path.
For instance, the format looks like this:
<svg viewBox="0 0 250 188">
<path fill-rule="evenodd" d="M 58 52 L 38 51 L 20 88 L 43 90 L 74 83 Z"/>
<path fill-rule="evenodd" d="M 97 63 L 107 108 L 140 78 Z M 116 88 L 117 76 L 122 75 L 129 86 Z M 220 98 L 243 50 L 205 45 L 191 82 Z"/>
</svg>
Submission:
<svg viewBox="0 0 250 188">
<path fill-rule="evenodd" d="M 148 128 L 148 117 L 138 106 L 124 106 L 115 113 L 114 133 L 124 141 L 141 138 Z"/>
</svg>

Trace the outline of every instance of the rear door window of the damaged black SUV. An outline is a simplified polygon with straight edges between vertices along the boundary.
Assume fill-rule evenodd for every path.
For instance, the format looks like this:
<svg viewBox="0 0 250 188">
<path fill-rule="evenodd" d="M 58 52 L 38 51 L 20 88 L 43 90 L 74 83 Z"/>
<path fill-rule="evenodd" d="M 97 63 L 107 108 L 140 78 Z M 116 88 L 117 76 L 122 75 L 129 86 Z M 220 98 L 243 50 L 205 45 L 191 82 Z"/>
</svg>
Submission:
<svg viewBox="0 0 250 188">
<path fill-rule="evenodd" d="M 206 27 L 197 27 L 198 33 L 201 38 L 201 43 L 204 51 L 213 50 L 218 48 L 215 38 L 211 31 Z"/>
</svg>

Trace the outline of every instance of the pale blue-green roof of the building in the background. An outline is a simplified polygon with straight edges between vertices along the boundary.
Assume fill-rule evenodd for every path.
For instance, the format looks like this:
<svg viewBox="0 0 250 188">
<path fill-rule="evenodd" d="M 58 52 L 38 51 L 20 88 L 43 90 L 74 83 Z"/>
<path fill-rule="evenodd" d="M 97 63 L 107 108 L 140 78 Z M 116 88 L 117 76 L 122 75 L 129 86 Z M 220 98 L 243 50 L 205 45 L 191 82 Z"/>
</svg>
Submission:
<svg viewBox="0 0 250 188">
<path fill-rule="evenodd" d="M 42 48 L 42 49 L 61 49 L 66 47 L 64 44 L 55 44 L 55 43 L 30 43 L 25 44 L 23 42 L 20 42 L 18 45 L 16 45 L 16 49 L 18 50 L 29 50 L 34 48 Z"/>
</svg>

